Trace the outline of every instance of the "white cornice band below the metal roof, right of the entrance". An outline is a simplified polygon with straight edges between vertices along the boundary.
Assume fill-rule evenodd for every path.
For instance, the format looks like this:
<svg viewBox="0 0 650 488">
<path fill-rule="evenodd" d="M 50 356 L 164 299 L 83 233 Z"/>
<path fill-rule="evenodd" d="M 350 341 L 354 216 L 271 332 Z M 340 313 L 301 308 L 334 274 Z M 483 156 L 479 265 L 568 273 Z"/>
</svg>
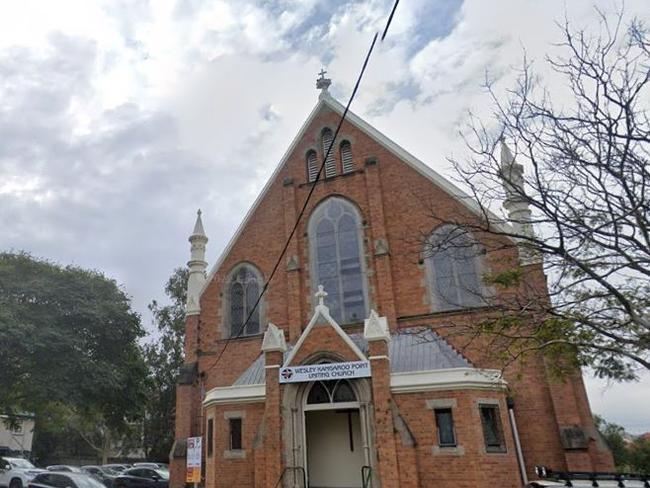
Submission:
<svg viewBox="0 0 650 488">
<path fill-rule="evenodd" d="M 495 369 L 449 368 L 409 373 L 392 373 L 392 393 L 432 390 L 503 390 L 506 382 Z"/>
</svg>

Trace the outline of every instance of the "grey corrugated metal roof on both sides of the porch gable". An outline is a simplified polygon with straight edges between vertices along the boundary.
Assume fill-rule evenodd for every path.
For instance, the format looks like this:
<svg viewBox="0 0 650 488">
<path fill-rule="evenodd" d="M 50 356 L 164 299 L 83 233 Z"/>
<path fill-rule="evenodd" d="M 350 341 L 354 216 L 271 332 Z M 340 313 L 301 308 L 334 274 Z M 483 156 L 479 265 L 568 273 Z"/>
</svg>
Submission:
<svg viewBox="0 0 650 488">
<path fill-rule="evenodd" d="M 363 334 L 350 334 L 350 338 L 367 355 L 368 342 Z M 293 349 L 289 345 L 284 353 L 286 359 Z M 444 339 L 431 329 L 400 329 L 391 335 L 388 347 L 391 373 L 431 371 L 434 369 L 467 368 L 471 363 L 456 352 Z M 237 378 L 235 385 L 260 385 L 264 383 L 264 355 L 253 361 Z"/>
</svg>

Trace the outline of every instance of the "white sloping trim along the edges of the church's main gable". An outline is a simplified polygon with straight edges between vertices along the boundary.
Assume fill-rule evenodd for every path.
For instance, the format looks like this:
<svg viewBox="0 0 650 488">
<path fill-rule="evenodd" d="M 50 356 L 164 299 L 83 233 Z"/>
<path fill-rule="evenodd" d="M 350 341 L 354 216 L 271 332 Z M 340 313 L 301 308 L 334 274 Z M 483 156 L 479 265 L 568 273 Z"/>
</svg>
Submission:
<svg viewBox="0 0 650 488">
<path fill-rule="evenodd" d="M 271 188 L 271 185 L 277 178 L 278 174 L 284 167 L 285 163 L 293 153 L 296 146 L 299 144 L 299 142 L 302 140 L 303 136 L 305 135 L 307 128 L 311 125 L 311 123 L 314 121 L 314 119 L 316 118 L 316 116 L 318 115 L 318 113 L 323 107 L 328 107 L 341 116 L 345 111 L 345 107 L 338 100 L 332 97 L 329 94 L 329 92 L 325 91 L 320 94 L 318 103 L 316 103 L 316 105 L 310 112 L 309 116 L 300 127 L 300 130 L 291 141 L 291 144 L 289 144 L 289 147 L 287 148 L 284 155 L 282 156 L 282 159 L 280 159 L 280 162 L 273 170 L 273 173 L 271 174 L 266 184 L 262 188 L 262 191 L 259 193 L 255 201 L 253 202 L 253 205 L 250 207 L 250 209 L 244 216 L 244 219 L 239 224 L 239 227 L 237 227 L 237 230 L 230 238 L 230 241 L 228 241 L 228 244 L 226 244 L 226 247 L 219 255 L 219 258 L 214 263 L 214 265 L 212 265 L 212 267 L 210 268 L 210 272 L 208 273 L 207 278 L 203 283 L 203 287 L 201 288 L 201 291 L 199 293 L 199 298 L 203 295 L 203 292 L 211 283 L 212 278 L 214 278 L 214 275 L 217 273 L 217 271 L 223 264 L 224 260 L 232 250 L 233 246 L 235 245 L 235 242 L 237 242 L 237 239 L 239 238 L 240 234 L 243 232 L 244 228 L 248 224 L 248 221 L 251 219 L 253 213 L 255 212 L 255 210 L 257 210 L 259 205 L 262 203 L 262 200 L 264 200 L 264 197 L 266 196 L 269 189 Z M 393 140 L 385 136 L 383 133 L 375 129 L 372 125 L 370 125 L 368 122 L 366 122 L 361 117 L 356 115 L 354 112 L 348 110 L 345 120 L 353 124 L 354 126 L 356 126 L 362 132 L 365 132 L 369 137 L 374 139 L 379 144 L 383 145 L 386 149 L 388 149 L 393 154 L 395 154 L 398 158 L 400 158 L 402 161 L 404 161 L 406 164 L 412 167 L 415 171 L 417 171 L 422 176 L 430 180 L 432 183 L 442 188 L 445 192 L 449 193 L 452 197 L 458 200 L 472 213 L 477 214 L 480 217 L 484 217 L 484 212 L 474 202 L 472 197 L 470 197 L 467 193 L 465 193 L 463 190 L 458 188 L 456 185 L 454 185 L 451 181 L 449 181 L 447 178 L 442 176 L 440 173 L 435 171 L 433 168 L 427 166 L 425 163 L 423 163 L 418 158 L 413 156 L 410 152 L 408 152 L 406 149 L 401 147 L 399 144 L 397 144 L 396 142 L 394 142 Z M 500 226 L 503 228 L 508 225 L 507 223 L 503 222 L 503 219 L 500 219 L 499 217 L 497 217 L 492 213 L 488 213 L 488 216 L 494 219 L 493 224 L 497 228 L 499 228 Z"/>
</svg>

